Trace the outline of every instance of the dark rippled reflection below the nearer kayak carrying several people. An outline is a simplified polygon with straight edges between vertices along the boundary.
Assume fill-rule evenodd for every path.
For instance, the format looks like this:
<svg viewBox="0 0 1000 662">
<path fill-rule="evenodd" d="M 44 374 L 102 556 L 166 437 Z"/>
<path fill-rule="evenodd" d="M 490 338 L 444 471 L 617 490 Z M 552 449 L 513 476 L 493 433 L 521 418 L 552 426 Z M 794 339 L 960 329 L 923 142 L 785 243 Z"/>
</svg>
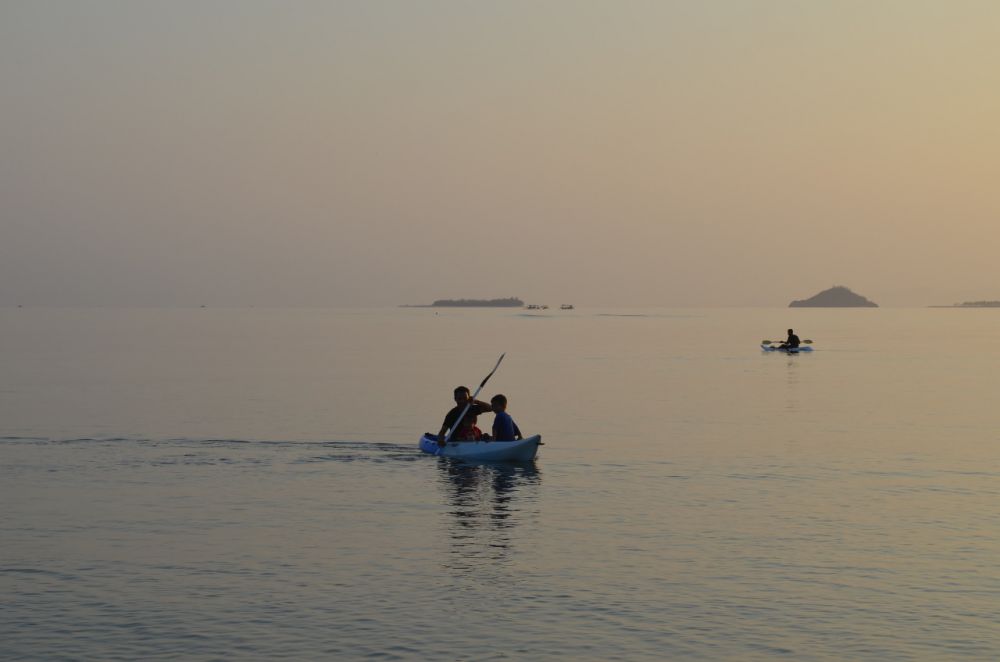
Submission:
<svg viewBox="0 0 1000 662">
<path fill-rule="evenodd" d="M 534 462 L 438 463 L 449 505 L 449 566 L 496 567 L 511 559 L 513 530 L 537 513 L 541 474 Z"/>
</svg>

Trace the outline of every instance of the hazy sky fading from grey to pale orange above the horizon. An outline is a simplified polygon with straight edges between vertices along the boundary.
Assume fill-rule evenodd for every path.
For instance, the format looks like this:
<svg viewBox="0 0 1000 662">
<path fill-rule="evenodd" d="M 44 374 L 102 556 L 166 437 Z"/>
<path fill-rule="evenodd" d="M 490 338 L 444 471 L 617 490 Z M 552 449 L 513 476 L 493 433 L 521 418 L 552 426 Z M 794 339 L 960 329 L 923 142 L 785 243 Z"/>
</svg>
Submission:
<svg viewBox="0 0 1000 662">
<path fill-rule="evenodd" d="M 0 0 L 0 305 L 924 305 L 998 248 L 995 0 Z"/>
</svg>

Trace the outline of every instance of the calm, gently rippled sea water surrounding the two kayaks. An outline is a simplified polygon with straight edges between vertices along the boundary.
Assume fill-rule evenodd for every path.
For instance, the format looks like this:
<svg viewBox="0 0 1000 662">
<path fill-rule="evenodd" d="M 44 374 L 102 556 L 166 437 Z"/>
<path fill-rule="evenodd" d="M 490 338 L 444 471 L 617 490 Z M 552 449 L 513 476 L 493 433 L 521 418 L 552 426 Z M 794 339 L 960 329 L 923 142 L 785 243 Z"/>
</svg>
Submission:
<svg viewBox="0 0 1000 662">
<path fill-rule="evenodd" d="M 998 310 L 0 324 L 2 659 L 1000 658 Z"/>
</svg>

